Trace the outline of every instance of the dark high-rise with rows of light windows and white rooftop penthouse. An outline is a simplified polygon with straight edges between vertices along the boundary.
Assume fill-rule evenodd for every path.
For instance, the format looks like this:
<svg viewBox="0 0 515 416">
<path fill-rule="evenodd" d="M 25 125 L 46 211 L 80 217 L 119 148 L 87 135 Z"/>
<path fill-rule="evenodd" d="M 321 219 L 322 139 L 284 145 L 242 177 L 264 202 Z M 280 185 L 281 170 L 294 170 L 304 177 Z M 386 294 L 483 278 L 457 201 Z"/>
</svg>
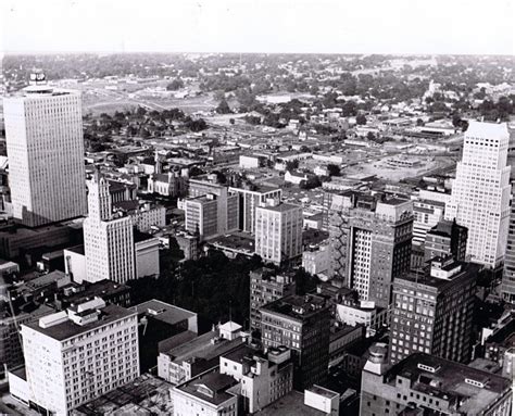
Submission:
<svg viewBox="0 0 515 416">
<path fill-rule="evenodd" d="M 398 363 L 415 352 L 467 362 L 479 266 L 434 259 L 424 272 L 393 281 L 389 357 Z"/>
</svg>

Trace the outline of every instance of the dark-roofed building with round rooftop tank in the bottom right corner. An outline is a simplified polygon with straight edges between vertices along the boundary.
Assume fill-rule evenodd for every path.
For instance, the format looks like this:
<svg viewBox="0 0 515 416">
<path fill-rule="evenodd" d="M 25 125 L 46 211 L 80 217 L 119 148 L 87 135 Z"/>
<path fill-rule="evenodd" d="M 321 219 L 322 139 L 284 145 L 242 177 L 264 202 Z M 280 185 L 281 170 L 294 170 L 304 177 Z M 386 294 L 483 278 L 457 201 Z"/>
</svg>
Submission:
<svg viewBox="0 0 515 416">
<path fill-rule="evenodd" d="M 386 349 L 370 348 L 361 389 L 361 416 L 485 415 L 510 416 L 512 380 L 416 353 L 392 367 Z"/>
</svg>

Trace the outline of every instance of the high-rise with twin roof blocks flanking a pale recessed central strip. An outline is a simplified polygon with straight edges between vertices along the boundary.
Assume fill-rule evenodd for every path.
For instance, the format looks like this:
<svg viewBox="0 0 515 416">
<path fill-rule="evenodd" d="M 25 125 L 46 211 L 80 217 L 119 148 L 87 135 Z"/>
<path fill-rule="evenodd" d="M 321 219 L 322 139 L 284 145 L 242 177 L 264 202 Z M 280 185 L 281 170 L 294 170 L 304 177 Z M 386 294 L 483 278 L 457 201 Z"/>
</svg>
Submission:
<svg viewBox="0 0 515 416">
<path fill-rule="evenodd" d="M 332 196 L 329 215 L 331 274 L 388 307 L 393 277 L 410 269 L 412 201 L 349 191 Z"/>
</svg>

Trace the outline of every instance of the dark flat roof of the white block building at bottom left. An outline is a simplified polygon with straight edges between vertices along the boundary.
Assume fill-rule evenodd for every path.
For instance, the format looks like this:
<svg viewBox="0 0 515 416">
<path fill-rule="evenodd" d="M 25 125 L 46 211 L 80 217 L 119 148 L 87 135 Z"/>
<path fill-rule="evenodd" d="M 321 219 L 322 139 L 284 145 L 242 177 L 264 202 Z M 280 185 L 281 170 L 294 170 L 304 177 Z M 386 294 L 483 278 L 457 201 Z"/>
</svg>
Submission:
<svg viewBox="0 0 515 416">
<path fill-rule="evenodd" d="M 76 337 L 80 333 L 88 332 L 92 329 L 103 327 L 110 323 L 113 323 L 118 319 L 127 318 L 129 316 L 136 315 L 133 311 L 127 310 L 125 307 L 118 305 L 106 305 L 102 307 L 100 316 L 98 320 L 92 322 L 91 324 L 87 325 L 77 325 L 71 319 L 66 319 L 64 323 L 53 325 L 48 328 L 41 328 L 39 326 L 39 322 L 33 322 L 28 324 L 24 324 L 27 327 L 41 332 L 42 335 L 53 338 L 58 341 L 63 341 L 65 339 Z"/>
</svg>

